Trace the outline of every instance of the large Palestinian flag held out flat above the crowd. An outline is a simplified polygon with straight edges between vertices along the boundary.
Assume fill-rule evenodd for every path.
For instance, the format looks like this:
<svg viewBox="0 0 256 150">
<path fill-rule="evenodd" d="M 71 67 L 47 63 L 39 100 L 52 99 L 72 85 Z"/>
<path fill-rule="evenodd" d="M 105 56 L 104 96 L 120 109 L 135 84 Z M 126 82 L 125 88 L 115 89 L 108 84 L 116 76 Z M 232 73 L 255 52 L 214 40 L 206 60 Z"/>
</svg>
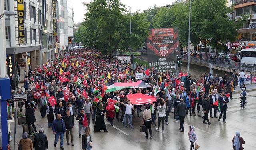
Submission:
<svg viewBox="0 0 256 150">
<path fill-rule="evenodd" d="M 124 88 L 149 88 L 150 85 L 146 84 L 144 81 L 140 80 L 133 83 L 114 83 L 110 86 L 107 86 L 108 89 L 105 92 L 112 92 L 115 90 L 122 90 Z"/>
</svg>

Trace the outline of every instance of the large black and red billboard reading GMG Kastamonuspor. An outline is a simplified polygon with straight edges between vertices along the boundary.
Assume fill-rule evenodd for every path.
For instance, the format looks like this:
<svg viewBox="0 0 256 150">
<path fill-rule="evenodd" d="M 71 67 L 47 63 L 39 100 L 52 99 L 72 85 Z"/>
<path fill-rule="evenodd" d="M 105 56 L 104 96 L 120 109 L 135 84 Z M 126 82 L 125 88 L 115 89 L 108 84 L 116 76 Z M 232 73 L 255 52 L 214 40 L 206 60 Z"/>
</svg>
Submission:
<svg viewBox="0 0 256 150">
<path fill-rule="evenodd" d="M 178 28 L 151 29 L 147 38 L 149 68 L 176 74 L 175 58 L 180 54 Z"/>
</svg>

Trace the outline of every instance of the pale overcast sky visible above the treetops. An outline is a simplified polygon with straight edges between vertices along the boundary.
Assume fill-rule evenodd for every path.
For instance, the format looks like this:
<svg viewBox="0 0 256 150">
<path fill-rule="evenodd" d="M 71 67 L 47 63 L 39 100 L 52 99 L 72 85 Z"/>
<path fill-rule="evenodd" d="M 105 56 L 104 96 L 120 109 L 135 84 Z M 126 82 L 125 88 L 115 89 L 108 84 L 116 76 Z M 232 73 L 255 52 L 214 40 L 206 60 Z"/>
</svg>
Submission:
<svg viewBox="0 0 256 150">
<path fill-rule="evenodd" d="M 132 12 L 136 10 L 146 10 L 148 7 L 153 6 L 165 6 L 172 4 L 175 0 L 121 0 L 122 4 L 130 6 Z M 86 8 L 82 4 L 83 2 L 88 3 L 92 0 L 73 0 L 73 11 L 74 11 L 74 23 L 83 22 Z"/>
</svg>

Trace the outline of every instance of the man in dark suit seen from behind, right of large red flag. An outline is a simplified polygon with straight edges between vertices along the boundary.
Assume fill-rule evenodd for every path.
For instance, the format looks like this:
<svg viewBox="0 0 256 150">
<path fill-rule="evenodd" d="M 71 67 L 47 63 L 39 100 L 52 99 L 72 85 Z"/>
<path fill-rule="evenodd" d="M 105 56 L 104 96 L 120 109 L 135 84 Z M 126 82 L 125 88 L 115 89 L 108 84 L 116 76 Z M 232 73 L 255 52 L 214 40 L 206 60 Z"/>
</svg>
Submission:
<svg viewBox="0 0 256 150">
<path fill-rule="evenodd" d="M 179 115 L 179 120 L 180 120 L 180 132 L 184 132 L 184 119 L 186 115 L 188 114 L 188 109 L 185 103 L 183 103 L 183 99 L 180 99 L 180 104 L 177 105 L 176 108 L 176 114 L 178 113 Z"/>
</svg>

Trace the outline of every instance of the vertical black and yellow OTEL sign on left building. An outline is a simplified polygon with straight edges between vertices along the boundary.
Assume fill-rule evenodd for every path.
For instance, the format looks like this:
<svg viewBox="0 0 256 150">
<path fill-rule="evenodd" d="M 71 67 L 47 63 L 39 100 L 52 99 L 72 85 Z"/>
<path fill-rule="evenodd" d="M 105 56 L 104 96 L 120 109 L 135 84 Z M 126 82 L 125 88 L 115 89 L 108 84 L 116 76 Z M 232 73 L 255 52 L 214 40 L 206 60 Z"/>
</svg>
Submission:
<svg viewBox="0 0 256 150">
<path fill-rule="evenodd" d="M 17 0 L 18 44 L 26 44 L 24 27 L 24 0 Z"/>
</svg>

